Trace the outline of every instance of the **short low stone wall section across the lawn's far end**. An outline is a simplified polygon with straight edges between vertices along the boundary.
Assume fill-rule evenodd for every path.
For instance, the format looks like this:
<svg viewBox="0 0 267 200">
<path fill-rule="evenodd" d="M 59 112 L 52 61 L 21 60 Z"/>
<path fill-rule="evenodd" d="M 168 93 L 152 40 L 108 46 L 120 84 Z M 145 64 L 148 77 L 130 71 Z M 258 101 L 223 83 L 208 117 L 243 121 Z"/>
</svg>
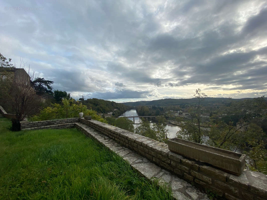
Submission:
<svg viewBox="0 0 267 200">
<path fill-rule="evenodd" d="M 78 121 L 79 118 L 55 119 L 37 122 L 22 121 L 20 122 L 20 127 L 21 130 L 71 128 L 74 127 L 74 123 Z"/>
</svg>

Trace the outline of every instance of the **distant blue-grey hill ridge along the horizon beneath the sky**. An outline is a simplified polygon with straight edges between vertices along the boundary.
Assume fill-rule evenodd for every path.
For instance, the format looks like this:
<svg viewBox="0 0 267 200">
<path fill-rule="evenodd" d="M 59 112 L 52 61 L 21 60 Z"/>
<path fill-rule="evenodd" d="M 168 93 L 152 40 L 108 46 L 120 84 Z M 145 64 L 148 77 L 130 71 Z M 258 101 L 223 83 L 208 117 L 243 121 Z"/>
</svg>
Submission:
<svg viewBox="0 0 267 200">
<path fill-rule="evenodd" d="M 222 97 L 207 97 L 201 104 L 224 104 L 230 101 L 244 101 L 245 99 L 253 99 L 253 98 L 241 98 L 241 99 L 229 99 L 229 98 L 222 98 Z M 264 98 L 267 100 L 267 97 Z M 125 102 L 123 103 L 126 106 L 174 106 L 174 105 L 187 105 L 187 104 L 195 104 L 198 103 L 197 98 L 190 98 L 190 99 L 158 99 L 153 101 L 136 101 L 136 102 Z"/>
</svg>

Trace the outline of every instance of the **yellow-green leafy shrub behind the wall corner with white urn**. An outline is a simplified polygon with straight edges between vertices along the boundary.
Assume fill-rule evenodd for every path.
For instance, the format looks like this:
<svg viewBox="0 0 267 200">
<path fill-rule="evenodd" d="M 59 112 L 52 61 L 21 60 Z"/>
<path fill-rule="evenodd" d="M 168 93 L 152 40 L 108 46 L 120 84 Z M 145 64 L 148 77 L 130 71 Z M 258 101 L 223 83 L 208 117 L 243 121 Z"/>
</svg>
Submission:
<svg viewBox="0 0 267 200">
<path fill-rule="evenodd" d="M 40 111 L 40 114 L 34 115 L 30 121 L 44 121 L 52 119 L 74 118 L 79 117 L 79 113 L 90 115 L 92 119 L 107 123 L 97 112 L 89 110 L 81 102 L 74 102 L 74 99 L 63 99 L 62 104 L 54 103 Z"/>
</svg>

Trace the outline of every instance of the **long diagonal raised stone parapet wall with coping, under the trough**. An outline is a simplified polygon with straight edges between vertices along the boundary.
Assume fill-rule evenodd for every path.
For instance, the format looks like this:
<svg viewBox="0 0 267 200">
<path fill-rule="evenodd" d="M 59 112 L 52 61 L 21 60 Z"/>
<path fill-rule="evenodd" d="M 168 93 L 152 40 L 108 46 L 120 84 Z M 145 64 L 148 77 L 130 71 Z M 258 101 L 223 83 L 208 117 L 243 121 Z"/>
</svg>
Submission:
<svg viewBox="0 0 267 200">
<path fill-rule="evenodd" d="M 267 198 L 267 176 L 262 173 L 244 170 L 240 176 L 236 176 L 209 166 L 207 163 L 194 161 L 173 153 L 168 149 L 167 144 L 154 139 L 93 119 L 72 118 L 69 120 L 78 120 L 80 123 L 92 127 L 166 171 L 176 174 L 197 187 L 208 189 L 221 198 L 229 200 L 263 200 Z M 50 121 L 43 121 L 43 123 L 45 122 L 50 123 Z M 27 122 L 23 123 L 26 124 Z M 68 123 L 68 119 L 53 120 L 53 123 Z M 31 125 L 34 125 L 34 123 Z"/>
</svg>

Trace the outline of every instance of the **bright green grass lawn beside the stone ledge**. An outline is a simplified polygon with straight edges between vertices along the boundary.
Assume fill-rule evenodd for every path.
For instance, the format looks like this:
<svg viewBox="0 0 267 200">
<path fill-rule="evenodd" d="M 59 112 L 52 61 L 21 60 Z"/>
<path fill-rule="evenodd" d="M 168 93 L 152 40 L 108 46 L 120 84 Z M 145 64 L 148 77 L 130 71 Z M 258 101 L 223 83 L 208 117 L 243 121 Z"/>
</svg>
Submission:
<svg viewBox="0 0 267 200">
<path fill-rule="evenodd" d="M 10 126 L 0 118 L 0 199 L 172 199 L 76 129 Z"/>
</svg>

